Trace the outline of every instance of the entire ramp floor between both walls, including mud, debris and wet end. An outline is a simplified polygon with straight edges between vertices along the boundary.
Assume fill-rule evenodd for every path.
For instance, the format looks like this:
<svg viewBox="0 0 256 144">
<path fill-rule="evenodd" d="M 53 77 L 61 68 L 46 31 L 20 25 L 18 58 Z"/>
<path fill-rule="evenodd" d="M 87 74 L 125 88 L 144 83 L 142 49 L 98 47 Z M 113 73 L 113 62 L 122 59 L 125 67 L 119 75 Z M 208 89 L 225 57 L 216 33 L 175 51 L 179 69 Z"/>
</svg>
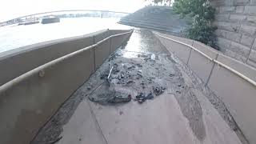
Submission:
<svg viewBox="0 0 256 144">
<path fill-rule="evenodd" d="M 31 143 L 236 144 L 246 140 L 223 103 L 200 79 L 150 30 L 138 29 Z"/>
</svg>

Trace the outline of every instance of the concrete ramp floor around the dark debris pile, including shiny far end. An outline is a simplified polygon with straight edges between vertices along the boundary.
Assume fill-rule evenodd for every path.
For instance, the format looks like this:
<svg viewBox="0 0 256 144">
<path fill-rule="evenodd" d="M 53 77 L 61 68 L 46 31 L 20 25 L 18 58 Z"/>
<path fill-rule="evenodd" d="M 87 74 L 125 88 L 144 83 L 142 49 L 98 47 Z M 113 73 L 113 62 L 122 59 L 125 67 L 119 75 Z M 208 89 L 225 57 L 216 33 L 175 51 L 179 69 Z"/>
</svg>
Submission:
<svg viewBox="0 0 256 144">
<path fill-rule="evenodd" d="M 166 58 L 162 55 L 169 54 L 150 31 L 135 30 L 127 46 L 122 50 L 121 57 L 140 62 L 141 59 L 134 58 L 134 55 L 142 53 L 157 54 L 160 59 Z M 166 62 L 172 62 L 170 67 L 177 66 L 174 60 Z M 53 132 L 57 128 L 53 123 L 49 123 L 38 134 L 38 138 L 34 139 L 34 143 L 45 143 L 50 137 L 58 140 L 51 139 L 48 142 L 58 144 L 242 143 L 204 93 L 194 86 L 194 80 L 182 69 L 179 69 L 178 73 L 184 81 L 186 89 L 184 94 L 175 93 L 178 89 L 170 88 L 171 84 L 167 84 L 166 91 L 162 95 L 142 104 L 133 100 L 116 105 L 90 102 L 87 96 L 93 94 L 102 83 L 95 79 L 102 74 L 108 64 L 105 62 L 70 99 L 74 101 L 80 98 L 81 101 L 67 102 L 66 106 L 60 109 L 62 112 L 56 114 L 58 121 L 67 119 L 65 122 L 60 122 L 62 126 L 57 126 L 61 127 L 61 134 L 58 137 L 51 137 L 50 134 L 57 134 Z M 162 67 L 169 70 L 166 65 Z M 166 79 L 163 75 L 159 78 Z M 70 108 L 73 111 L 67 110 L 68 103 L 73 106 Z M 70 114 L 70 116 L 61 116 L 62 114 Z"/>
</svg>

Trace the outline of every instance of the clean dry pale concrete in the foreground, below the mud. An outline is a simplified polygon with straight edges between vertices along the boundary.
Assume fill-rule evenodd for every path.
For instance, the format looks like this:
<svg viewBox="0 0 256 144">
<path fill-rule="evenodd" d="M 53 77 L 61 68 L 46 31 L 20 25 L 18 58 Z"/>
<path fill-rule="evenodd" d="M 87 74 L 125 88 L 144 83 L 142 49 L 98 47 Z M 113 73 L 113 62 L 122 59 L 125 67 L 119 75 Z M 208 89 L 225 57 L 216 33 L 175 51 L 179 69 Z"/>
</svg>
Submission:
<svg viewBox="0 0 256 144">
<path fill-rule="evenodd" d="M 174 95 L 165 94 L 143 105 L 130 102 L 124 106 L 102 107 L 82 102 L 64 126 L 63 138 L 58 143 L 241 143 L 210 102 L 199 91 L 197 94 L 206 126 L 206 138 L 202 142 L 190 130 Z"/>
</svg>

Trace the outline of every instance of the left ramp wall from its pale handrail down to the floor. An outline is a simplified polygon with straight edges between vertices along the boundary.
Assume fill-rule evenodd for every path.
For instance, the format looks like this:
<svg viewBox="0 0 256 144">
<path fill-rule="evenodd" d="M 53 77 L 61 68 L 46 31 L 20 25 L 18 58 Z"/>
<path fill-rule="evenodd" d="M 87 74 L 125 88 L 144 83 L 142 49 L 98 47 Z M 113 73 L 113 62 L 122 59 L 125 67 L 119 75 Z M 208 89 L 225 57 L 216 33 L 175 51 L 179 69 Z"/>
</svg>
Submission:
<svg viewBox="0 0 256 144">
<path fill-rule="evenodd" d="M 127 31 L 119 34 L 122 43 L 132 33 Z M 94 73 L 95 62 L 99 62 L 98 66 L 104 62 L 94 50 L 105 49 L 107 54 L 102 56 L 106 58 L 111 38 L 46 62 L 0 86 L 0 143 L 29 143 L 58 107 Z"/>
</svg>

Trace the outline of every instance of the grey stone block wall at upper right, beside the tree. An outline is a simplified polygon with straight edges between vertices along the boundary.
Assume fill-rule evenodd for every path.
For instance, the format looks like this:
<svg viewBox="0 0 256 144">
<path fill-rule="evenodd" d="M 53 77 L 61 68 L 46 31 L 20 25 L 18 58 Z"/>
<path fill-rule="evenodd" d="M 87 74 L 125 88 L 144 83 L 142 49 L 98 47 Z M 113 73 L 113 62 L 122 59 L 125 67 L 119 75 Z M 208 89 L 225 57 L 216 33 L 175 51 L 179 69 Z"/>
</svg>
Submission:
<svg viewBox="0 0 256 144">
<path fill-rule="evenodd" d="M 256 67 L 256 0 L 212 0 L 220 50 Z"/>
</svg>

